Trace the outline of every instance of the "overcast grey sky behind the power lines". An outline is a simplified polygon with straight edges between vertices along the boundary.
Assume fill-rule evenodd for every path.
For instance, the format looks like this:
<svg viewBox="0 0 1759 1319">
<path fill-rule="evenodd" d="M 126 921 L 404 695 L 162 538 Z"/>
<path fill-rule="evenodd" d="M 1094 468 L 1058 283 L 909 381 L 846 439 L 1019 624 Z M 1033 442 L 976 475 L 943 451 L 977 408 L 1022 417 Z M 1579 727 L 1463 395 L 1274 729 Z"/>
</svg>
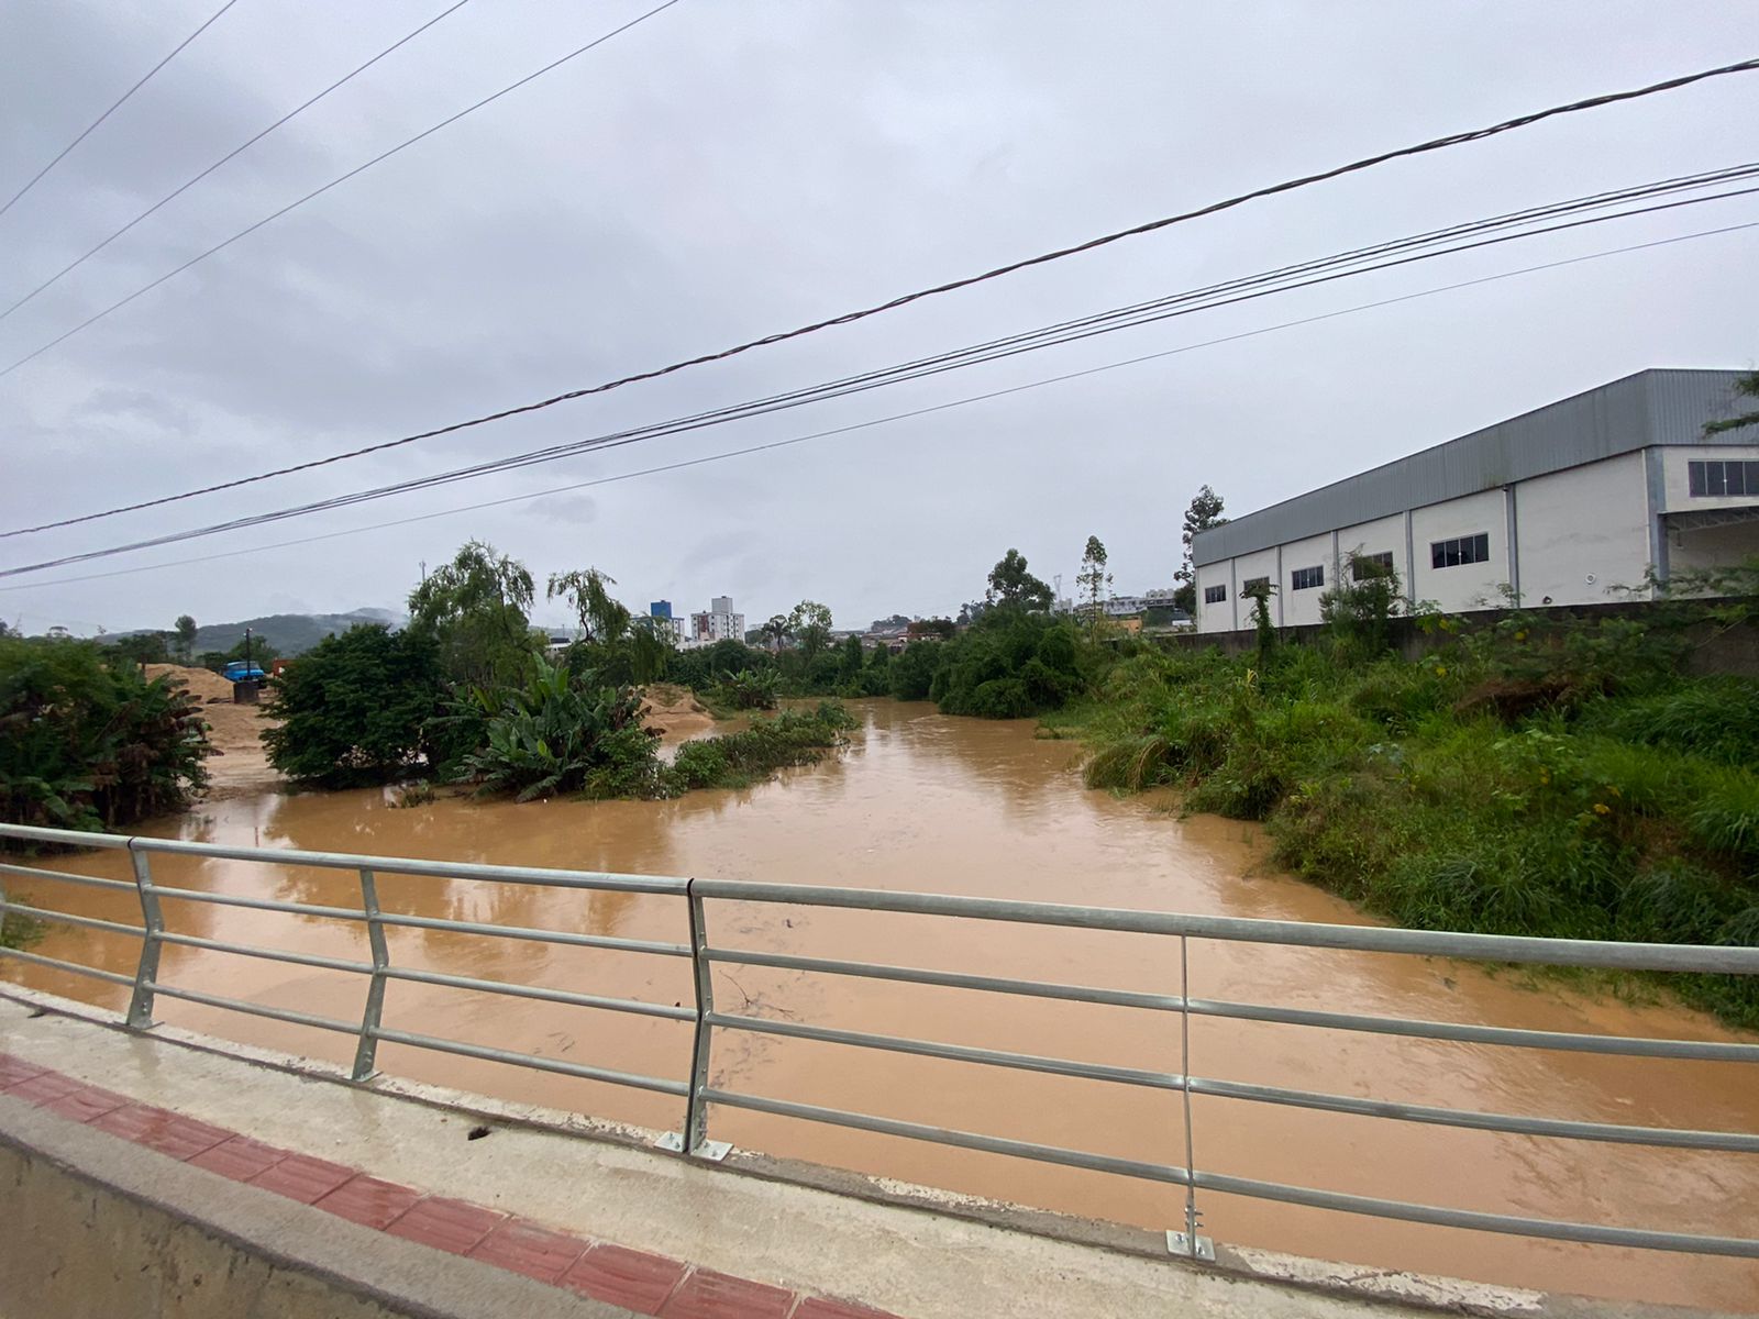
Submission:
<svg viewBox="0 0 1759 1319">
<path fill-rule="evenodd" d="M 0 216 L 0 306 L 449 0 L 239 0 Z M 653 0 L 471 0 L 0 320 L 0 368 Z M 0 200 L 218 7 L 7 0 Z M 682 0 L 0 380 L 0 529 L 394 438 L 716 350 L 1379 149 L 1755 53 L 1731 4 Z M 1759 74 L 1252 202 L 535 417 L 55 533 L 100 549 L 737 403 L 1423 229 L 1759 158 Z M 1597 225 L 1101 336 L 777 417 L 5 579 L 90 633 L 401 607 L 484 538 L 646 607 L 802 596 L 939 614 L 1018 547 L 1069 589 L 1166 586 L 1201 482 L 1231 514 L 1646 366 L 1752 366 L 1759 229 L 1281 322 L 1759 220 Z M 1266 331 L 774 454 L 288 549 Z M 97 580 L 67 580 L 118 573 Z M 141 572 L 135 572 L 141 570 Z M 40 584 L 39 584 L 40 582 Z M 538 619 L 559 610 L 540 607 Z"/>
</svg>

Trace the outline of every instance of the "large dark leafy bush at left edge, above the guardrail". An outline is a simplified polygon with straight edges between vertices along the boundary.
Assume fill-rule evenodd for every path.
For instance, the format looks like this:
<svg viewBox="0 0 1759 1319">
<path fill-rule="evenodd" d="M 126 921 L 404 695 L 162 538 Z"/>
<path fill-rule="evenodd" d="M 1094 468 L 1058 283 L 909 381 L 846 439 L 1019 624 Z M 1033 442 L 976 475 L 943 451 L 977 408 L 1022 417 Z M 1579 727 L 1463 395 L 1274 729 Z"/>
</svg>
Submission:
<svg viewBox="0 0 1759 1319">
<path fill-rule="evenodd" d="M 104 830 L 181 811 L 206 754 L 181 682 L 84 642 L 0 638 L 0 820 Z"/>
</svg>

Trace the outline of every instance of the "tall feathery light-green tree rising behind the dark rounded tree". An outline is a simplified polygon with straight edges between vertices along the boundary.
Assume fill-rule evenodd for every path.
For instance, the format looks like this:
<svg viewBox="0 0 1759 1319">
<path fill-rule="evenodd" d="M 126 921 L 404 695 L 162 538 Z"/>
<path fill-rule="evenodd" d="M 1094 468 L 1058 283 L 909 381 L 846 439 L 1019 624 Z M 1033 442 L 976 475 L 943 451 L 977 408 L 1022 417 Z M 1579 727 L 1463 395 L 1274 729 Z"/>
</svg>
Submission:
<svg viewBox="0 0 1759 1319">
<path fill-rule="evenodd" d="M 410 631 L 434 644 L 454 682 L 519 682 L 533 654 L 535 589 L 522 563 L 471 540 L 410 593 Z"/>
</svg>

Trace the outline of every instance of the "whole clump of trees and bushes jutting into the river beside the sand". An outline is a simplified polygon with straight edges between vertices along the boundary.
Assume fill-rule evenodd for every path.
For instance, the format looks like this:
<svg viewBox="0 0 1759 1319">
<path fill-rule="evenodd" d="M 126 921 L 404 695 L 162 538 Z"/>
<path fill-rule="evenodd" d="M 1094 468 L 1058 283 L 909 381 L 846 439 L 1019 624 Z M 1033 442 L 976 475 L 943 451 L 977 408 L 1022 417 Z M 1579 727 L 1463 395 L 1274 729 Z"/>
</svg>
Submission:
<svg viewBox="0 0 1759 1319">
<path fill-rule="evenodd" d="M 677 656 L 612 598 L 595 568 L 556 573 L 580 640 L 549 647 L 528 610 L 529 570 L 471 542 L 410 593 L 410 626 L 361 624 L 329 637 L 273 684 L 269 762 L 299 783 L 343 788 L 429 777 L 517 800 L 672 797 L 744 786 L 836 746 L 853 725 L 837 705 L 786 711 L 726 737 L 658 753 L 640 686 Z M 741 712 L 777 703 L 779 675 L 751 651 L 693 652 L 705 693 Z"/>
</svg>

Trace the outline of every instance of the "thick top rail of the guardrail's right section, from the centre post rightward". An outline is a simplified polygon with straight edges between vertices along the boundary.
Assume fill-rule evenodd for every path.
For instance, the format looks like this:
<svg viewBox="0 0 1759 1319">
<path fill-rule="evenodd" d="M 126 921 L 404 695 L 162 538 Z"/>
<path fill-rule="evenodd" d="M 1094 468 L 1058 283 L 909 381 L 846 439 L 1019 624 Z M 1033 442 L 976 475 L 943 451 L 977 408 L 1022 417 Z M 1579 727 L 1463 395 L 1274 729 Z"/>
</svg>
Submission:
<svg viewBox="0 0 1759 1319">
<path fill-rule="evenodd" d="M 999 897 L 894 893 L 881 888 L 760 885 L 748 879 L 697 879 L 698 897 L 735 902 L 783 902 L 806 907 L 858 907 L 918 916 L 1025 922 L 1122 934 L 1168 934 L 1226 943 L 1268 943 L 1289 948 L 1339 948 L 1358 953 L 1412 953 L 1474 962 L 1583 966 L 1608 971 L 1710 971 L 1759 974 L 1759 948 L 1724 944 L 1645 944 L 1595 939 L 1536 939 L 1511 934 L 1449 934 L 1390 925 L 1319 925 L 1295 920 L 1193 916 L 1128 907 L 1078 907 L 1061 902 L 1015 902 Z"/>
</svg>

